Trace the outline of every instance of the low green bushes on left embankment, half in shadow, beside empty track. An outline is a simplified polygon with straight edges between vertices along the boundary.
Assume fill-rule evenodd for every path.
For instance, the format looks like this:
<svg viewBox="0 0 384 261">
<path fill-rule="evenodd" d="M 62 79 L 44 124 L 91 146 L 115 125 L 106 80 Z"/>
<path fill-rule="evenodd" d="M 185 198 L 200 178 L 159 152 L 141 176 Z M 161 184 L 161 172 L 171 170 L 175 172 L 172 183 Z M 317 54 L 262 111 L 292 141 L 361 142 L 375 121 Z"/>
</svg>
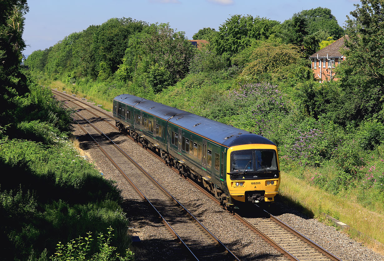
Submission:
<svg viewBox="0 0 384 261">
<path fill-rule="evenodd" d="M 26 259 L 33 249 L 42 253 L 46 248 L 51 254 L 54 242 L 86 231 L 97 233 L 106 226 L 117 228 L 118 242 L 126 242 L 128 222 L 119 206 L 120 191 L 65 138 L 54 140 L 52 147 L 0 141 L 0 165 L 7 173 L 0 182 L 0 213 L 6 220 L 0 224 L 4 260 Z"/>
</svg>

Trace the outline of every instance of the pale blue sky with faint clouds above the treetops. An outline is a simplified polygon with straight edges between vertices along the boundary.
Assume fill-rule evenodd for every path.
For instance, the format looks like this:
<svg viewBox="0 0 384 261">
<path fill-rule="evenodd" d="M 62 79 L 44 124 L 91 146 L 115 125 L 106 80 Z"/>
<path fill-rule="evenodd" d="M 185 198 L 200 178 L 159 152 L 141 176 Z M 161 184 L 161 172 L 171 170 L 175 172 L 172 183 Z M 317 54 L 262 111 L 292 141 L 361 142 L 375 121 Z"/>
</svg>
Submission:
<svg viewBox="0 0 384 261">
<path fill-rule="evenodd" d="M 294 13 L 316 7 L 331 9 L 340 26 L 359 0 L 28 0 L 23 39 L 25 56 L 45 50 L 65 36 L 110 18 L 131 17 L 147 23 L 169 23 L 192 36 L 204 27 L 215 28 L 232 15 L 252 15 L 283 22 Z M 349 15 L 351 17 L 351 15 Z"/>
</svg>

